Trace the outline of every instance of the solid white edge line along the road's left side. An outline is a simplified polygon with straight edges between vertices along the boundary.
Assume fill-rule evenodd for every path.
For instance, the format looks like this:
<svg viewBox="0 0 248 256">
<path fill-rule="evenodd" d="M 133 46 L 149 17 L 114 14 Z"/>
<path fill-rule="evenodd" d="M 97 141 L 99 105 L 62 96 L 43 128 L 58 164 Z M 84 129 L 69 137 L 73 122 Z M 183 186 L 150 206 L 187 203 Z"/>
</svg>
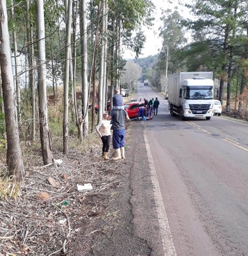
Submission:
<svg viewBox="0 0 248 256">
<path fill-rule="evenodd" d="M 175 247 L 174 247 L 174 243 L 173 243 L 173 238 L 171 236 L 170 226 L 169 226 L 168 218 L 167 218 L 167 215 L 165 212 L 165 205 L 163 204 L 163 199 L 162 199 L 161 191 L 159 188 L 158 176 L 157 176 L 157 172 L 155 170 L 152 152 L 150 150 L 148 138 L 146 136 L 145 131 L 144 131 L 144 139 L 145 139 L 146 151 L 148 154 L 150 174 L 152 177 L 153 193 L 154 193 L 154 199 L 155 199 L 155 204 L 156 204 L 156 208 L 157 208 L 159 231 L 161 233 L 164 255 L 165 256 L 175 256 L 176 251 L 175 251 Z"/>
</svg>

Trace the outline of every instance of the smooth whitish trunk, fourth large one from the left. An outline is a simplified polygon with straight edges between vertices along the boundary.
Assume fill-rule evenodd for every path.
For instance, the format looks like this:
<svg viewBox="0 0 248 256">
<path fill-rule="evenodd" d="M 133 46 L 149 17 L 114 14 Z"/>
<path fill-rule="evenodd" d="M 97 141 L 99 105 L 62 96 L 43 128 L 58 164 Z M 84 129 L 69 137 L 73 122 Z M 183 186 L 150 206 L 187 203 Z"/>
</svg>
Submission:
<svg viewBox="0 0 248 256">
<path fill-rule="evenodd" d="M 88 115 L 88 105 L 89 105 L 89 84 L 87 77 L 88 68 L 88 55 L 87 55 L 87 17 L 86 17 L 86 0 L 80 1 L 80 35 L 81 35 L 81 55 L 82 55 L 82 123 L 83 134 L 80 134 L 81 142 L 83 138 L 89 137 L 89 115 Z M 94 106 L 93 106 L 94 108 Z M 81 123 L 80 123 L 81 124 Z"/>
</svg>

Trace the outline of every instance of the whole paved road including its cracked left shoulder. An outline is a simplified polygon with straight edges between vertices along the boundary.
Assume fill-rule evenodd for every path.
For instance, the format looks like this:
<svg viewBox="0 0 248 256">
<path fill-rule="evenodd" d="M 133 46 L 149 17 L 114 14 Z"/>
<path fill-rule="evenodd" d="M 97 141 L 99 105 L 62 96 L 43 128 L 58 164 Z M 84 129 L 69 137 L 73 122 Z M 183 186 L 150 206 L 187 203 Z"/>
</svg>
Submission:
<svg viewBox="0 0 248 256">
<path fill-rule="evenodd" d="M 158 115 L 127 130 L 113 232 L 99 233 L 87 256 L 248 255 L 247 122 L 181 121 L 142 84 L 133 98 L 152 97 Z"/>
</svg>

